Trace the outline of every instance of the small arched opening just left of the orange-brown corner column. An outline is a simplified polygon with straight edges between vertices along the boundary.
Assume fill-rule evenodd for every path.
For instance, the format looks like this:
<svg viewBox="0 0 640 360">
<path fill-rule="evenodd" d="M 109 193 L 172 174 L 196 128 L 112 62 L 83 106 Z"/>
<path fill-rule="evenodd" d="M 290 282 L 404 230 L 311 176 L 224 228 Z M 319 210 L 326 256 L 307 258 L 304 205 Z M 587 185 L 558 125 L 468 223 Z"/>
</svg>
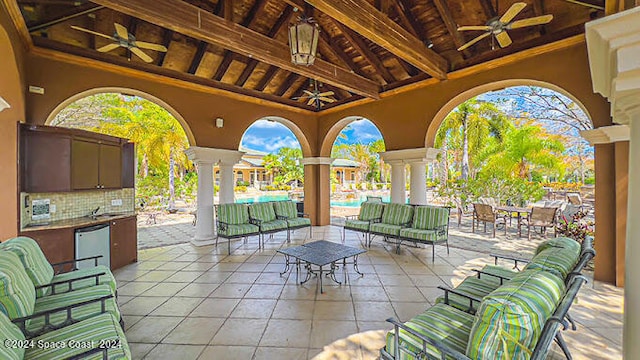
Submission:
<svg viewBox="0 0 640 360">
<path fill-rule="evenodd" d="M 236 202 L 302 199 L 305 147 L 310 151 L 291 121 L 274 116 L 256 120 L 242 135 L 238 149 L 245 154 L 234 166 Z"/>
</svg>

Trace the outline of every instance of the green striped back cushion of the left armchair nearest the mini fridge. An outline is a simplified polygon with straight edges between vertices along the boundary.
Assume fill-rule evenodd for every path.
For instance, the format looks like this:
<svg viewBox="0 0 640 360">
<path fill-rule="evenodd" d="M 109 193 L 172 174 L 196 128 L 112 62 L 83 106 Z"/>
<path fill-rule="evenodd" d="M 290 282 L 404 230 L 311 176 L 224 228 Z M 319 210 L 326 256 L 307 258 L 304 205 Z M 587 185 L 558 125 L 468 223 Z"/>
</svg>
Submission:
<svg viewBox="0 0 640 360">
<path fill-rule="evenodd" d="M 2 248 L 18 255 L 34 286 L 51 283 L 54 274 L 53 267 L 35 240 L 20 236 L 5 241 L 2 243 Z M 51 288 L 38 289 L 36 294 L 44 296 L 50 291 Z"/>
</svg>

